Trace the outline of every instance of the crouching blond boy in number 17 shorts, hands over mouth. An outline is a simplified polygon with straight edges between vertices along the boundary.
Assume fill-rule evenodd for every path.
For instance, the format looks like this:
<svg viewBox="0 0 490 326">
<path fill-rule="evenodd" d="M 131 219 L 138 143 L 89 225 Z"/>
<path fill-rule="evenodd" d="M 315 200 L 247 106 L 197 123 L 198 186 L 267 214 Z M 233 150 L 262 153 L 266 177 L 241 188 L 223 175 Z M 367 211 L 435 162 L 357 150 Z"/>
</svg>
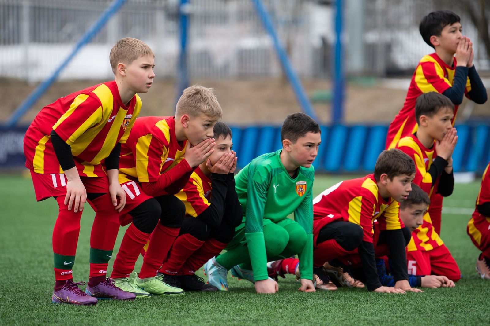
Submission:
<svg viewBox="0 0 490 326">
<path fill-rule="evenodd" d="M 121 149 L 119 181 L 128 196 L 126 205 L 134 208 L 120 218 L 122 225 L 132 223 L 114 261 L 111 277 L 116 286 L 131 292 L 143 289 L 146 293 L 138 292 L 139 298 L 184 293 L 164 283 L 156 273 L 185 216 L 184 204 L 174 195 L 213 153 L 213 127 L 221 115 L 213 89 L 192 86 L 184 90 L 177 102 L 174 117 L 136 120 Z M 141 271 L 129 281 L 145 245 Z"/>
</svg>

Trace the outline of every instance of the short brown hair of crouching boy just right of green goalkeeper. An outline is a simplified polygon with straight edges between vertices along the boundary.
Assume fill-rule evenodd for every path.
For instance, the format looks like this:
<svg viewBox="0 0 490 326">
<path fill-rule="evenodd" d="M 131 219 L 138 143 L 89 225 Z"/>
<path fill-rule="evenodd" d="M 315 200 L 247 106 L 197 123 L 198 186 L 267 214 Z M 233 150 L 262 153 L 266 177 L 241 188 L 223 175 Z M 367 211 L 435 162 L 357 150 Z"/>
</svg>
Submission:
<svg viewBox="0 0 490 326">
<path fill-rule="evenodd" d="M 381 174 L 388 174 L 390 180 L 397 175 L 415 174 L 415 163 L 410 156 L 398 149 L 386 150 L 379 154 L 374 166 L 374 179 L 379 181 Z"/>
</svg>

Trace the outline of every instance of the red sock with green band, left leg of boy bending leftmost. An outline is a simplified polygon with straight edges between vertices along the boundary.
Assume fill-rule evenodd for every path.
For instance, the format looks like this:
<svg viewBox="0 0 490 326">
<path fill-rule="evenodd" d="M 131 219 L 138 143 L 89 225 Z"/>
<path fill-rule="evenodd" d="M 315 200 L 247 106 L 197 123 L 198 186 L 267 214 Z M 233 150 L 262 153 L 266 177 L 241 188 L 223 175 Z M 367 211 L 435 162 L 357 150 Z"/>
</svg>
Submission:
<svg viewBox="0 0 490 326">
<path fill-rule="evenodd" d="M 82 211 L 76 213 L 68 210 L 65 196 L 56 197 L 59 206 L 58 218 L 53 228 L 54 279 L 66 281 L 73 279 L 76 244 L 80 233 L 80 217 Z M 63 286 L 63 285 L 62 285 Z M 61 287 L 60 287 L 61 288 Z"/>
</svg>

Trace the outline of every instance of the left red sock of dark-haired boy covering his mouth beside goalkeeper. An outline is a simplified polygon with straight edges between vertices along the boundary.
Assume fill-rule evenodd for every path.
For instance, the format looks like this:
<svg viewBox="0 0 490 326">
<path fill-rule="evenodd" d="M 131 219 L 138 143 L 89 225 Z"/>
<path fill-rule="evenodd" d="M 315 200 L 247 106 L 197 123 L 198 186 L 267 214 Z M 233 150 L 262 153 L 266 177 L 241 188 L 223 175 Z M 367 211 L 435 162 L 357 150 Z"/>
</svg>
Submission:
<svg viewBox="0 0 490 326">
<path fill-rule="evenodd" d="M 189 233 L 180 235 L 175 239 L 169 257 L 163 263 L 159 272 L 175 275 L 189 257 L 203 245 L 204 241 L 196 239 Z"/>
</svg>

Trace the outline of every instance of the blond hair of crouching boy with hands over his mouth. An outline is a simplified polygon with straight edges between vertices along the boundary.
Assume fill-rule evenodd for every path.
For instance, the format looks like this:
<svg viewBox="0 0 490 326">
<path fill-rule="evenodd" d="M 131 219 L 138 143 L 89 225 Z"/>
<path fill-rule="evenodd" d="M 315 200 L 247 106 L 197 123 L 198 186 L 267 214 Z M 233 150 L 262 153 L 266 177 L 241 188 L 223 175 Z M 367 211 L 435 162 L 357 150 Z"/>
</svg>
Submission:
<svg viewBox="0 0 490 326">
<path fill-rule="evenodd" d="M 181 117 L 184 114 L 198 116 L 204 114 L 210 118 L 221 119 L 223 110 L 218 99 L 213 93 L 214 88 L 194 85 L 184 89 L 184 92 L 177 102 L 175 116 Z"/>
</svg>

